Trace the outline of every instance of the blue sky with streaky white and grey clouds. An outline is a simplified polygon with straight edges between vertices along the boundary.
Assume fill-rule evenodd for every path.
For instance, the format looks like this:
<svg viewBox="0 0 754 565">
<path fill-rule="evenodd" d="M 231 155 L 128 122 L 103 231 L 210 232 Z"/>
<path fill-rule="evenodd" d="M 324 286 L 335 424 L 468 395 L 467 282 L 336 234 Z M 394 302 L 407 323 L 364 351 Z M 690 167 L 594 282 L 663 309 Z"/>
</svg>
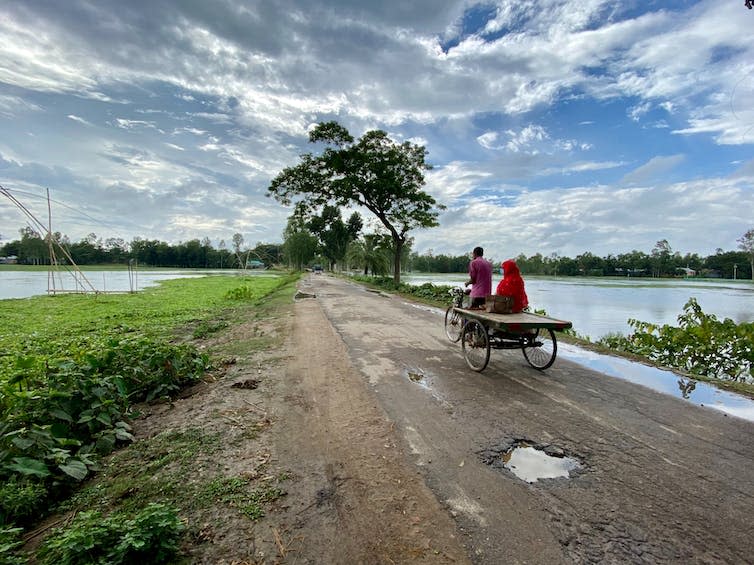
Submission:
<svg viewBox="0 0 754 565">
<path fill-rule="evenodd" d="M 0 185 L 71 241 L 279 243 L 270 181 L 336 120 L 426 147 L 422 254 L 732 251 L 752 29 L 743 0 L 0 0 Z M 0 195 L 0 243 L 27 225 Z"/>
</svg>

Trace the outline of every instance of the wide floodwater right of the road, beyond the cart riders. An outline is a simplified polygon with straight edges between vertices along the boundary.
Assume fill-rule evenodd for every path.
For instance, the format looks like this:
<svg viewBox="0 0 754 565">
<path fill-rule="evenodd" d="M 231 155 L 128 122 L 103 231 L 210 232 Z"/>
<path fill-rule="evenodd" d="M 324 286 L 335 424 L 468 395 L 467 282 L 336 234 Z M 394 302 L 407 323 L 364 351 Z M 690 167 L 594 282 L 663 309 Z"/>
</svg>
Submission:
<svg viewBox="0 0 754 565">
<path fill-rule="evenodd" d="M 467 275 L 407 274 L 402 280 L 420 285 L 462 285 Z M 609 333 L 628 334 L 629 318 L 653 324 L 678 324 L 689 298 L 720 320 L 754 321 L 752 281 L 630 279 L 604 277 L 524 277 L 529 305 L 573 323 L 578 335 L 596 341 Z M 493 289 L 500 276 L 493 276 Z M 450 303 L 450 297 L 448 297 Z"/>
</svg>

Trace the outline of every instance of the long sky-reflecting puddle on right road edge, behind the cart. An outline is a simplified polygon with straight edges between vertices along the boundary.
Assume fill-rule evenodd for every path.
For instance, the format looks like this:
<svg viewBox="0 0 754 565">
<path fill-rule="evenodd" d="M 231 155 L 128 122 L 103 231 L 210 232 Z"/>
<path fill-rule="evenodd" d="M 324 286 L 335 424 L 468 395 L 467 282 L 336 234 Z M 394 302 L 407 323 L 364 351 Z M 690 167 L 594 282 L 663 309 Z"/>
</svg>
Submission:
<svg viewBox="0 0 754 565">
<path fill-rule="evenodd" d="M 574 361 L 612 377 L 625 379 L 658 392 L 683 398 L 698 406 L 708 406 L 754 422 L 754 400 L 720 390 L 705 382 L 679 377 L 672 371 L 635 363 L 621 357 L 601 355 L 562 342 L 558 343 L 558 357 Z"/>
</svg>

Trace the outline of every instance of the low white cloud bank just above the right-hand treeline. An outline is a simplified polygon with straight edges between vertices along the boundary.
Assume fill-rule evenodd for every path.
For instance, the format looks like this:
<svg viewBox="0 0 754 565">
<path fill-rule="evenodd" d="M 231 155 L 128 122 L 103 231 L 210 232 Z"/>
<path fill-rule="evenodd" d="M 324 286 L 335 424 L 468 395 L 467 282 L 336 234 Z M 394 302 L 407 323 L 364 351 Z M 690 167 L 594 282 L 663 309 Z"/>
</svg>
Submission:
<svg viewBox="0 0 754 565">
<path fill-rule="evenodd" d="M 453 207 L 441 227 L 417 232 L 420 252 L 443 249 L 464 254 L 474 245 L 497 260 L 520 253 L 557 252 L 575 257 L 649 252 L 668 239 L 681 253 L 735 248 L 740 222 L 754 217 L 751 185 L 707 179 L 672 185 L 614 189 L 608 186 L 520 192 L 504 204 L 478 202 Z M 716 211 L 710 215 L 710 207 Z M 704 229 L 701 229 L 704 227 Z M 714 239 L 709 234 L 716 234 Z"/>
</svg>

